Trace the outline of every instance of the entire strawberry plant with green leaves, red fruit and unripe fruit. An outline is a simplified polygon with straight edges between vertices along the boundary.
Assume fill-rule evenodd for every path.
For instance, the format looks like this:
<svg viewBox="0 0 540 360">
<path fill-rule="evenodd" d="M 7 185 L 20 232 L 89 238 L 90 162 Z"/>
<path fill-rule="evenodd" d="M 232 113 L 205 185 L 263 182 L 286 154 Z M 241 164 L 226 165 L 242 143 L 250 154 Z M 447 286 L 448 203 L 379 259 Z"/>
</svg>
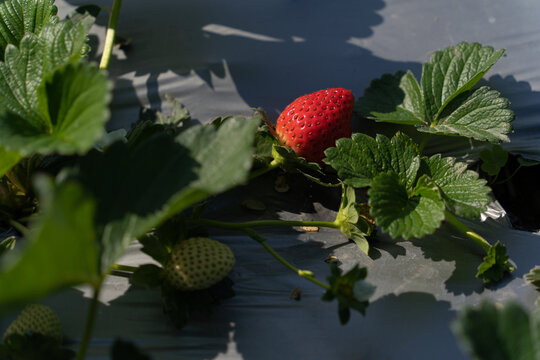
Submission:
<svg viewBox="0 0 540 360">
<path fill-rule="evenodd" d="M 325 227 L 370 254 L 379 233 L 422 238 L 446 222 L 484 252 L 477 277 L 486 284 L 514 270 L 498 239 L 484 239 L 464 220 L 486 211 L 488 182 L 458 158 L 429 152 L 441 137 L 469 138 L 484 145 L 485 173 L 496 176 L 504 165 L 499 143 L 509 141 L 514 114 L 497 91 L 476 86 L 503 50 L 462 42 L 436 51 L 420 81 L 411 71 L 384 75 L 356 103 L 342 88 L 303 95 L 284 107 L 275 128 L 262 109 L 196 125 L 168 99 L 171 115 L 146 109 L 130 129 L 107 133 L 106 69 L 120 6 L 113 2 L 97 66 L 87 58 L 94 21 L 87 8 L 61 20 L 52 0 L 0 4 L 0 221 L 18 235 L 0 241 L 0 288 L 9 289 L 0 292 L 0 312 L 88 285 L 93 295 L 77 352 L 83 359 L 103 282 L 121 274 L 159 287 L 165 313 L 182 327 L 234 294 L 227 275 L 235 256 L 209 237 L 213 228 L 251 238 L 321 287 L 322 300 L 337 301 L 343 324 L 351 309 L 364 314 L 374 293 L 366 268 L 331 264 L 321 280 L 272 248 L 264 228 Z M 354 114 L 399 131 L 353 134 Z M 340 191 L 335 217 L 207 216 L 216 197 L 271 171 Z M 117 263 L 135 240 L 154 263 Z M 113 352 L 123 351 L 138 352 L 118 342 Z"/>
</svg>

